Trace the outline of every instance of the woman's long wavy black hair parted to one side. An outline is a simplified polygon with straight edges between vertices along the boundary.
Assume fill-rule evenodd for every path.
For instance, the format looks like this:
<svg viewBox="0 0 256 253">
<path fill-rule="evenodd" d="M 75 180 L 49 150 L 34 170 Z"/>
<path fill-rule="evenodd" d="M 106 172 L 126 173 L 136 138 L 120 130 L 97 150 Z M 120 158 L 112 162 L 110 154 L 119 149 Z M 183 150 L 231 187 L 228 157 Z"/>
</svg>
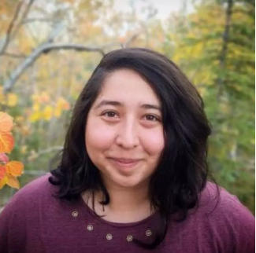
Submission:
<svg viewBox="0 0 256 253">
<path fill-rule="evenodd" d="M 172 214 L 179 214 L 180 220 L 184 220 L 187 211 L 198 206 L 199 193 L 208 177 L 207 139 L 211 131 L 195 86 L 161 53 L 125 48 L 102 58 L 76 101 L 60 163 L 51 170 L 49 181 L 59 186 L 60 199 L 77 200 L 82 192 L 101 190 L 105 195 L 102 204 L 109 203 L 100 173 L 87 154 L 85 128 L 102 83 L 111 72 L 123 68 L 137 72 L 161 101 L 165 147 L 149 185 L 150 203 L 159 211 L 161 224 L 152 243 L 134 240 L 143 248 L 153 249 L 165 239 Z"/>
</svg>

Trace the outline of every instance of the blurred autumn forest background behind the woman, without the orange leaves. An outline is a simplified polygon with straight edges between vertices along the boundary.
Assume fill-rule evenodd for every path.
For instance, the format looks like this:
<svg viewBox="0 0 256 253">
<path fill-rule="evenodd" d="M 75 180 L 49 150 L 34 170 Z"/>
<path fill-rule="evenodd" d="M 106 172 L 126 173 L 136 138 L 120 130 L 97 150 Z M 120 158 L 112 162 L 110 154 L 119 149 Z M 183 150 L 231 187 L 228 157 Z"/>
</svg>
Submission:
<svg viewBox="0 0 256 253">
<path fill-rule="evenodd" d="M 213 126 L 213 177 L 254 213 L 254 24 L 254 0 L 1 0 L 0 111 L 16 123 L 10 159 L 24 163 L 21 185 L 49 171 L 104 53 L 141 46 L 197 86 Z M 5 186 L 0 206 L 14 192 Z"/>
</svg>

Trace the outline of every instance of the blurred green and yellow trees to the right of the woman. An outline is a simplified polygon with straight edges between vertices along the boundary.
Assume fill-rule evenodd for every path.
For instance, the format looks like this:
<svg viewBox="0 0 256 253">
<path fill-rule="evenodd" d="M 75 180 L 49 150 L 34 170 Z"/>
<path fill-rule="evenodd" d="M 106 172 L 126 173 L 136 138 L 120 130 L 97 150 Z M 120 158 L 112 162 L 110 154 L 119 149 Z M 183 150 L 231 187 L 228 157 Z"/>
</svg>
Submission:
<svg viewBox="0 0 256 253">
<path fill-rule="evenodd" d="M 200 86 L 204 80 L 202 96 L 213 126 L 209 152 L 213 177 L 254 212 L 255 9 L 247 1 L 234 1 L 227 24 L 225 2 L 207 1 L 187 16 L 187 31 L 176 38 L 181 46 L 176 54 L 187 75 L 196 66 L 204 71 L 195 73 L 193 81 Z M 180 57 L 182 52 L 191 53 Z"/>
</svg>

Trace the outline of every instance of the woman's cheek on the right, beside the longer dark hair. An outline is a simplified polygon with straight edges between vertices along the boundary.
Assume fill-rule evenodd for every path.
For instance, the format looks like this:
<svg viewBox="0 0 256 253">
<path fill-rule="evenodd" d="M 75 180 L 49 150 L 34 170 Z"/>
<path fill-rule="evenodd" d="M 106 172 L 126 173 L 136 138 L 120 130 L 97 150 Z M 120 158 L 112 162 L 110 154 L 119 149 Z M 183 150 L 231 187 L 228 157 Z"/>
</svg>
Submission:
<svg viewBox="0 0 256 253">
<path fill-rule="evenodd" d="M 159 157 L 165 147 L 163 130 L 144 131 L 141 142 L 150 156 Z"/>
</svg>

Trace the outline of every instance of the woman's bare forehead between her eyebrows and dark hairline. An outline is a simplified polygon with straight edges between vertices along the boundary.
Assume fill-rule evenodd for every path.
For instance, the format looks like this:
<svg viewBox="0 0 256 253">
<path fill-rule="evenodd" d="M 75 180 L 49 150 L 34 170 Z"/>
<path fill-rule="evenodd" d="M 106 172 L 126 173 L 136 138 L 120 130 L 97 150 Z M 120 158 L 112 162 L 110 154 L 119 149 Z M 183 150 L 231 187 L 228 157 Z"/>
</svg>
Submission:
<svg viewBox="0 0 256 253">
<path fill-rule="evenodd" d="M 121 69 L 109 74 L 98 96 L 98 99 L 101 98 L 124 100 L 131 103 L 152 102 L 161 105 L 158 95 L 155 94 L 150 84 L 137 72 L 130 69 Z"/>
</svg>

